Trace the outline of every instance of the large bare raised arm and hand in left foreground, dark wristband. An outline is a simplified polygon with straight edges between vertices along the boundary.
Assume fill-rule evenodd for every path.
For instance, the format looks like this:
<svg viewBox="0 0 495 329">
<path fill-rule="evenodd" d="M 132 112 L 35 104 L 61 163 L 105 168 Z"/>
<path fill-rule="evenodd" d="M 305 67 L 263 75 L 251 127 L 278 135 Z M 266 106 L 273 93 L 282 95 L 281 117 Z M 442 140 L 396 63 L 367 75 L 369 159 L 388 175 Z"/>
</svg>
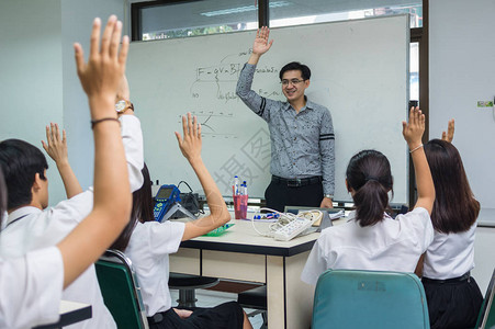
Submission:
<svg viewBox="0 0 495 329">
<path fill-rule="evenodd" d="M 88 63 L 75 44 L 79 79 L 88 94 L 94 136 L 94 207 L 60 243 L 64 286 L 70 284 L 115 240 L 131 214 L 131 191 L 120 125 L 114 109 L 116 90 L 125 71 L 128 37 L 122 22 L 110 16 L 100 46 L 101 22 L 95 19 Z"/>
</svg>

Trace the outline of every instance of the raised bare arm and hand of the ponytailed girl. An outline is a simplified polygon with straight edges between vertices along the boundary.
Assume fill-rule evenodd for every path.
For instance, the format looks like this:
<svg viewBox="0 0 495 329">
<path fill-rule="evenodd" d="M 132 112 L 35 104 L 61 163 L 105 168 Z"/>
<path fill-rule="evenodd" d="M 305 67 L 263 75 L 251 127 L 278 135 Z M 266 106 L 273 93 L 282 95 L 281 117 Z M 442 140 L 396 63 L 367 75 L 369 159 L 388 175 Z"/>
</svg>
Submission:
<svg viewBox="0 0 495 329">
<path fill-rule="evenodd" d="M 435 185 L 421 143 L 425 132 L 425 114 L 418 107 L 410 107 L 409 122 L 403 122 L 402 126 L 402 134 L 409 147 L 416 174 L 418 200 L 414 207 L 424 207 L 431 215 L 435 202 Z"/>
</svg>

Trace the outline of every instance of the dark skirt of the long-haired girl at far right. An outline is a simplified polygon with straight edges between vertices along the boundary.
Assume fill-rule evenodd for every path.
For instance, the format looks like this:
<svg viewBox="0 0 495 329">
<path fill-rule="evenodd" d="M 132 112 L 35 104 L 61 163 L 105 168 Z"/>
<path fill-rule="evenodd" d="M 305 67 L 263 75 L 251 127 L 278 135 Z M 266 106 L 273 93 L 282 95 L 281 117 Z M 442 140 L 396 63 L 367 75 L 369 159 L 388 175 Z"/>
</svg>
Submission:
<svg viewBox="0 0 495 329">
<path fill-rule="evenodd" d="M 473 328 L 483 295 L 473 277 L 439 283 L 423 280 L 431 329 Z"/>
</svg>

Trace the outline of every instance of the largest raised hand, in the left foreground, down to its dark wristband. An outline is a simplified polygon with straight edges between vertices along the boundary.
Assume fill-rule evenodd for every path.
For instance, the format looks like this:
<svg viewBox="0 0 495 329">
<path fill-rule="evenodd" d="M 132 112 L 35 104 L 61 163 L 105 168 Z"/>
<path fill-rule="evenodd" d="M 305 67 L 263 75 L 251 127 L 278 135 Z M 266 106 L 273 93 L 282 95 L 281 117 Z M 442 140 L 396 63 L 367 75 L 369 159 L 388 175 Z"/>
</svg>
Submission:
<svg viewBox="0 0 495 329">
<path fill-rule="evenodd" d="M 119 86 L 125 72 L 125 60 L 128 50 L 128 37 L 122 38 L 122 47 L 119 45 L 122 33 L 122 22 L 115 15 L 111 15 L 103 31 L 100 45 L 101 20 L 95 19 L 91 32 L 91 46 L 88 63 L 80 44 L 74 45 L 76 52 L 76 66 L 82 89 L 88 94 L 89 102 L 103 101 L 112 106 L 90 106 L 91 116 L 102 117 L 115 115 L 114 101 Z"/>
</svg>

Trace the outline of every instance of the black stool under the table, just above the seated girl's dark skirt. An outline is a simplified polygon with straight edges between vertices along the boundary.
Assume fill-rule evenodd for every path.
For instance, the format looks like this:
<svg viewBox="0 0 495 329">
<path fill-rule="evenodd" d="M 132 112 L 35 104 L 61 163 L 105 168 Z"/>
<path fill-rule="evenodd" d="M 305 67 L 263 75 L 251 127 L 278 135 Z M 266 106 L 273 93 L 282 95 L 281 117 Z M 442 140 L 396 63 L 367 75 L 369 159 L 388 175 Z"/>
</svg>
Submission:
<svg viewBox="0 0 495 329">
<path fill-rule="evenodd" d="M 198 276 L 180 273 L 170 273 L 168 279 L 168 286 L 171 290 L 179 291 L 179 299 L 177 307 L 193 308 L 196 307 L 195 290 L 204 290 L 217 285 L 220 280 L 217 277 Z"/>
</svg>

